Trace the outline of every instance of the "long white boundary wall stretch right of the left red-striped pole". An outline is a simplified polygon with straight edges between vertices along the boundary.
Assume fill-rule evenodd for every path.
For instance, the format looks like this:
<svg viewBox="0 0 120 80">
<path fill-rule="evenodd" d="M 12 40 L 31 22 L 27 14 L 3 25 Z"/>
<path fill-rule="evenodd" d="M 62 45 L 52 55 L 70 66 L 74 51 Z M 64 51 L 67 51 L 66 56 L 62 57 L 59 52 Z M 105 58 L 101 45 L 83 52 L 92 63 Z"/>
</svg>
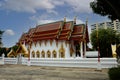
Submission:
<svg viewBox="0 0 120 80">
<path fill-rule="evenodd" d="M 37 66 L 58 66 L 58 67 L 85 67 L 97 68 L 97 58 L 67 58 L 67 59 L 30 59 L 30 65 Z M 101 58 L 102 68 L 117 67 L 115 58 Z"/>
</svg>

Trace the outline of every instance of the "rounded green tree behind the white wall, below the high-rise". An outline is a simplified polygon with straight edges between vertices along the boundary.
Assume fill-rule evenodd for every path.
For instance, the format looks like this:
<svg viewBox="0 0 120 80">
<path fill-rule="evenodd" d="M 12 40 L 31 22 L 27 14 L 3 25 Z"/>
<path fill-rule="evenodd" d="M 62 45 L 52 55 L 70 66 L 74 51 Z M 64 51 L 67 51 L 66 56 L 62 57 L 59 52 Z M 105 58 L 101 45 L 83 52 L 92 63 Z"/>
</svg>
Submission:
<svg viewBox="0 0 120 80">
<path fill-rule="evenodd" d="M 91 33 L 91 44 L 96 50 L 99 46 L 101 57 L 112 57 L 111 44 L 115 44 L 117 40 L 116 31 L 110 28 L 94 30 Z"/>
</svg>

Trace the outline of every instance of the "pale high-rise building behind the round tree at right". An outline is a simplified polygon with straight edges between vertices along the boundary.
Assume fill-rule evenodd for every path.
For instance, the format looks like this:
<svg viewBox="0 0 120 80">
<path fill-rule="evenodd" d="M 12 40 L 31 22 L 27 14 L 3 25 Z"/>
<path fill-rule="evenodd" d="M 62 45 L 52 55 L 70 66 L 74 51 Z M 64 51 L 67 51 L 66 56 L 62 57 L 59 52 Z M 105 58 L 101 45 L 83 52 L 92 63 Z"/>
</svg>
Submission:
<svg viewBox="0 0 120 80">
<path fill-rule="evenodd" d="M 120 21 L 114 20 L 113 22 L 102 22 L 102 23 L 95 23 L 91 25 L 91 31 L 97 29 L 97 28 L 112 28 L 113 30 L 120 32 Z"/>
</svg>

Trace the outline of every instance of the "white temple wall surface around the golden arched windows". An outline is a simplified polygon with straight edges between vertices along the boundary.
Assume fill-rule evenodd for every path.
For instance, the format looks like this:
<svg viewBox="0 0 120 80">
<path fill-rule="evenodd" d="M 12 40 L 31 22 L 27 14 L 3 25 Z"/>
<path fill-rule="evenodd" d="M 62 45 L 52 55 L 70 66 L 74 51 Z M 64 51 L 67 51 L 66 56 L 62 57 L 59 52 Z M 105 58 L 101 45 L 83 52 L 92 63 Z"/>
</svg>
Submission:
<svg viewBox="0 0 120 80">
<path fill-rule="evenodd" d="M 58 44 L 57 44 L 58 43 Z M 35 45 L 36 44 L 36 45 Z M 34 55 L 34 58 L 37 58 L 37 51 L 40 52 L 40 57 L 41 57 L 41 52 L 44 51 L 45 52 L 45 58 L 47 58 L 47 51 L 50 51 L 51 55 L 50 57 L 52 58 L 53 55 L 52 55 L 52 52 L 55 50 L 56 51 L 56 58 L 61 58 L 60 57 L 60 48 L 61 46 L 63 45 L 63 48 L 65 50 L 65 58 L 69 58 L 70 57 L 70 44 L 66 41 L 56 41 L 56 40 L 53 40 L 52 43 L 50 40 L 47 40 L 47 41 L 40 41 L 40 42 L 37 42 L 37 43 L 32 43 L 32 46 L 31 46 L 31 50 L 30 50 L 30 54 L 31 54 L 31 57 L 32 57 L 32 52 L 34 51 L 35 55 Z"/>
</svg>

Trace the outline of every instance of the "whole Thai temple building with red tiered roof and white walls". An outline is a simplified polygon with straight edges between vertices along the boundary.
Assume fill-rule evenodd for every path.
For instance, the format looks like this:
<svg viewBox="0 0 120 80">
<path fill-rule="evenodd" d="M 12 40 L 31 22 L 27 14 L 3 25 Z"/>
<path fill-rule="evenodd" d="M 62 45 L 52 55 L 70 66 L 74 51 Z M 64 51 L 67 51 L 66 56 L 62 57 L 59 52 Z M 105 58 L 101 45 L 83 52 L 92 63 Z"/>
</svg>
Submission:
<svg viewBox="0 0 120 80">
<path fill-rule="evenodd" d="M 87 24 L 64 18 L 23 33 L 16 53 L 29 58 L 83 58 L 88 41 Z"/>
</svg>

